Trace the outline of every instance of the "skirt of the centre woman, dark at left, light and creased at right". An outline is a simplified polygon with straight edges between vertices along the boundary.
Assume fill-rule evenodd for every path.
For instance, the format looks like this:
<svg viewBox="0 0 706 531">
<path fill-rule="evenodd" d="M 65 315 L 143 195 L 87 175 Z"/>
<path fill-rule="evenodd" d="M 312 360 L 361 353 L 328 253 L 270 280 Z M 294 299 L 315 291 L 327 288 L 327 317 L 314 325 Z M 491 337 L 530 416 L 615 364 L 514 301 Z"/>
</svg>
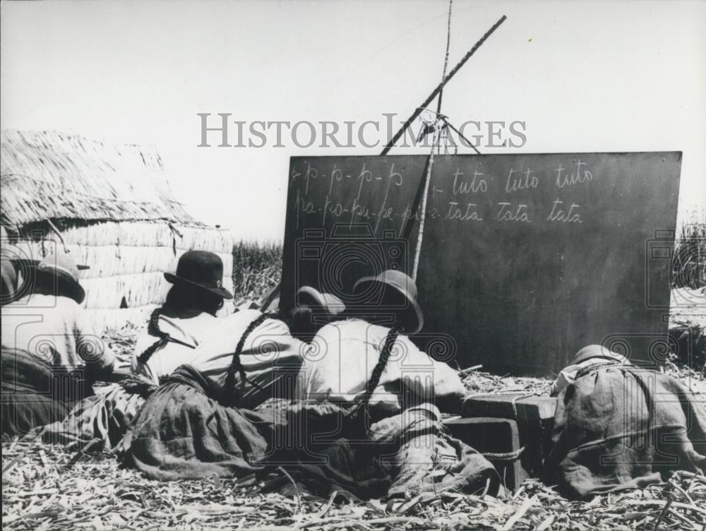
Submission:
<svg viewBox="0 0 706 531">
<path fill-rule="evenodd" d="M 472 493 L 499 479 L 493 465 L 450 437 L 436 407 L 421 405 L 364 424 L 333 402 L 299 402 L 285 414 L 268 463 L 285 468 L 319 496 L 347 490 L 362 499 Z"/>
</svg>

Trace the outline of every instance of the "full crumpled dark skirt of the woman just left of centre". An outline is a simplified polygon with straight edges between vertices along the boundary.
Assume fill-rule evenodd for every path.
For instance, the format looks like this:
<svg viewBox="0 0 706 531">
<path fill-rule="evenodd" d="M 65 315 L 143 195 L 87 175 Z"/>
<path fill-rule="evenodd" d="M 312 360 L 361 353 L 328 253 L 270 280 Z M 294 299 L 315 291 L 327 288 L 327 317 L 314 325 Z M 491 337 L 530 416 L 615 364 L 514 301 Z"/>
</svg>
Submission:
<svg viewBox="0 0 706 531">
<path fill-rule="evenodd" d="M 152 479 L 232 477 L 262 470 L 276 418 L 220 405 L 191 366 L 145 400 L 123 443 L 124 461 Z"/>
</svg>

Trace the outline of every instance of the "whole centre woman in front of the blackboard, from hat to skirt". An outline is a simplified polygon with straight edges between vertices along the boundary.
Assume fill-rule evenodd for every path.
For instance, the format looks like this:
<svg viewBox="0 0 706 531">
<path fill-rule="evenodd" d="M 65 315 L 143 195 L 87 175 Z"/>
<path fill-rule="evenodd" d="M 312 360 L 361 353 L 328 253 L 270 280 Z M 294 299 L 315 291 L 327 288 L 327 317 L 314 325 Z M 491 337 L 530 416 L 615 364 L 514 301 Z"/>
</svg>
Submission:
<svg viewBox="0 0 706 531">
<path fill-rule="evenodd" d="M 284 448 L 277 460 L 292 463 L 295 480 L 320 496 L 340 488 L 363 498 L 493 492 L 493 465 L 441 424 L 437 404 L 454 411 L 465 396 L 459 376 L 403 335 L 423 323 L 412 279 L 387 270 L 359 280 L 354 295 L 365 303 L 363 318 L 348 305 L 349 318 L 311 342 L 297 378 L 300 402 L 287 417 L 303 448 Z M 311 455 L 324 459 L 312 463 Z"/>
</svg>

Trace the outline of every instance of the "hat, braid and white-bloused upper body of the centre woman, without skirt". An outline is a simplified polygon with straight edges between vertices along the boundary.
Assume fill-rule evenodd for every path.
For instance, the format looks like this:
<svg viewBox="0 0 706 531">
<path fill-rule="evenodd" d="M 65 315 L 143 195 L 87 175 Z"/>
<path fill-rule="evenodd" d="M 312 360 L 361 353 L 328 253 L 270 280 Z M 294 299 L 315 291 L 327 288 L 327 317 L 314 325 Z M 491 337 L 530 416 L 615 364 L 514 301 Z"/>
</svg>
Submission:
<svg viewBox="0 0 706 531">
<path fill-rule="evenodd" d="M 414 281 L 387 270 L 356 283 L 354 294 L 366 292 L 379 304 L 366 304 L 363 316 L 349 308 L 352 316 L 324 326 L 313 338 L 316 355 L 302 364 L 295 396 L 342 405 L 368 400 L 376 419 L 400 413 L 405 396 L 457 412 L 466 394 L 457 372 L 407 337 L 424 323 Z"/>
</svg>

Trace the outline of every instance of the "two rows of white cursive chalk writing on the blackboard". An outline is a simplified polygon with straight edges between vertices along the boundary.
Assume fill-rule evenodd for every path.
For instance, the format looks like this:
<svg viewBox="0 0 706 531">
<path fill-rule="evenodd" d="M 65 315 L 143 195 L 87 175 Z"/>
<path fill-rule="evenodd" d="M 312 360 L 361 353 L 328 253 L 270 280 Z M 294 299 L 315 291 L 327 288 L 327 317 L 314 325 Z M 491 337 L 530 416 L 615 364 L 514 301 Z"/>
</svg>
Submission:
<svg viewBox="0 0 706 531">
<path fill-rule="evenodd" d="M 432 220 L 455 222 L 519 222 L 531 224 L 539 220 L 546 222 L 583 223 L 585 215 L 582 205 L 565 198 L 554 197 L 552 201 L 534 201 L 532 204 L 525 198 L 523 201 L 513 201 L 518 193 L 532 193 L 536 190 L 538 196 L 546 196 L 542 187 L 554 189 L 571 188 L 580 184 L 590 183 L 594 179 L 593 172 L 587 162 L 574 160 L 569 171 L 559 164 L 551 170 L 551 174 L 543 176 L 532 168 L 510 168 L 506 177 L 501 179 L 491 174 L 479 172 L 465 172 L 457 167 L 450 179 L 443 175 L 435 176 L 438 185 L 431 186 L 430 202 L 426 215 Z M 419 212 L 413 213 L 412 202 L 407 203 L 403 210 L 399 210 L 399 201 L 390 201 L 404 188 L 405 178 L 403 173 L 395 169 L 395 164 L 383 173 L 375 173 L 363 163 L 356 169 L 344 169 L 333 165 L 328 177 L 326 193 L 321 197 L 319 191 L 309 196 L 311 183 L 316 179 L 325 179 L 316 165 L 306 163 L 304 172 L 296 169 L 292 171 L 291 180 L 297 182 L 304 179 L 304 186 L 297 186 L 294 208 L 296 209 L 296 225 L 299 227 L 300 215 L 317 214 L 321 216 L 321 226 L 331 219 L 346 221 L 349 225 L 359 222 L 371 222 L 373 231 L 376 232 L 383 220 L 400 220 L 400 227 L 405 221 L 416 217 Z M 350 190 L 349 181 L 354 181 L 354 193 L 342 193 L 337 189 L 344 186 Z M 446 186 L 445 183 L 450 184 Z M 374 186 L 375 193 L 366 194 L 368 187 Z M 441 187 L 443 186 L 443 188 Z M 444 189 L 450 191 L 450 198 L 444 198 Z M 481 201 L 481 198 L 491 194 L 507 196 L 507 201 Z M 525 196 L 523 196 L 525 197 Z M 346 198 L 346 199 L 342 199 Z M 367 198 L 367 199 L 365 199 Z M 476 198 L 476 199 L 471 199 Z M 469 201 L 469 199 L 471 199 Z M 323 202 L 322 202 L 323 201 Z"/>
</svg>

